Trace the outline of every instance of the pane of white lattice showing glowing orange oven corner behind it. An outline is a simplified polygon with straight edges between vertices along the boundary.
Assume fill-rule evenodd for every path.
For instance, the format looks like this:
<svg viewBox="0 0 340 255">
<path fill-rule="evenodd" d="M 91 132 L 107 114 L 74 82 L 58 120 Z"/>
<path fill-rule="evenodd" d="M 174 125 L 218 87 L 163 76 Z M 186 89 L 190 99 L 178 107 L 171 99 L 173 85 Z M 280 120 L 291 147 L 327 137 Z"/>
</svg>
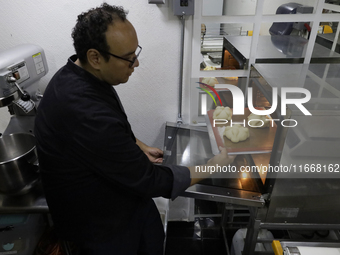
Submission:
<svg viewBox="0 0 340 255">
<path fill-rule="evenodd" d="M 247 62 L 238 58 L 234 52 L 238 38 L 251 41 L 253 24 L 248 23 L 207 23 L 201 25 L 201 69 L 205 71 L 220 69 L 243 69 Z M 239 45 L 242 46 L 242 45 Z M 250 51 L 250 44 L 245 50 Z"/>
</svg>

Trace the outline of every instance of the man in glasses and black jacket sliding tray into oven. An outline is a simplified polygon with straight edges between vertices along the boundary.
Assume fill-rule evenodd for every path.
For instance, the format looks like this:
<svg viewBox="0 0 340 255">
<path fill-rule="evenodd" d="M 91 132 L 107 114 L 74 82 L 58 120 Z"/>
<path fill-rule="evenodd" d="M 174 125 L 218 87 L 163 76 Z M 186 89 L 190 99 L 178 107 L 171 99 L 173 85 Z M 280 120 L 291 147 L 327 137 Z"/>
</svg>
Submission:
<svg viewBox="0 0 340 255">
<path fill-rule="evenodd" d="M 78 16 L 77 55 L 52 78 L 35 123 L 42 183 L 55 229 L 81 254 L 162 254 L 152 197 L 174 199 L 198 179 L 161 166 L 163 152 L 136 139 L 112 85 L 128 81 L 141 47 L 121 7 Z M 225 150 L 210 164 L 229 164 Z"/>
</svg>

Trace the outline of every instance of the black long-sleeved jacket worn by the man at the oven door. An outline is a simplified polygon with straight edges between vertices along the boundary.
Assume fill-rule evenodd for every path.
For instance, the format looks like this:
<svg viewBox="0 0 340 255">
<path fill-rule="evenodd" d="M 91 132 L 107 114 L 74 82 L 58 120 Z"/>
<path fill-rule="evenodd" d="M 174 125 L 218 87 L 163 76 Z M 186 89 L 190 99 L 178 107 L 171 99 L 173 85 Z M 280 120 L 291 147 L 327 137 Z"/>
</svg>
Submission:
<svg viewBox="0 0 340 255">
<path fill-rule="evenodd" d="M 99 241 L 119 234 L 152 197 L 178 196 L 190 173 L 151 163 L 114 88 L 74 58 L 47 86 L 34 133 L 56 230 L 64 239 Z"/>
</svg>

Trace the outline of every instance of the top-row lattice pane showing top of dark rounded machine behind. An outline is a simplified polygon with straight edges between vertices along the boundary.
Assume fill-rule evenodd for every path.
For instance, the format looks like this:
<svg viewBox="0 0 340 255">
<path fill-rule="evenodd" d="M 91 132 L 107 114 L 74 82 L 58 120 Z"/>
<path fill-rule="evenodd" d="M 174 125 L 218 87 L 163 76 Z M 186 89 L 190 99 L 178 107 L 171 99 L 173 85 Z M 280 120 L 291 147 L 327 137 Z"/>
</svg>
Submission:
<svg viewBox="0 0 340 255">
<path fill-rule="evenodd" d="M 263 14 L 308 14 L 315 13 L 316 0 L 295 0 L 287 3 L 286 0 L 265 0 Z"/>
</svg>

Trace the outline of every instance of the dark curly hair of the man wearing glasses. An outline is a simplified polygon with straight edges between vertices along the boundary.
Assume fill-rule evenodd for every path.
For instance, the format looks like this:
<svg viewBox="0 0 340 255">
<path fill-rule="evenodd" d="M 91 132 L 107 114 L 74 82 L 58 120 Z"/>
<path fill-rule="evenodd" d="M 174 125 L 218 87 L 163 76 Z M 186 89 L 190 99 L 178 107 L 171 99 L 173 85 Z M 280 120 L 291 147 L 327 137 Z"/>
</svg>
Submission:
<svg viewBox="0 0 340 255">
<path fill-rule="evenodd" d="M 77 57 L 82 63 L 87 62 L 87 51 L 97 49 L 109 60 L 109 55 L 102 51 L 109 51 L 105 32 L 115 20 L 126 20 L 127 11 L 120 6 L 103 3 L 100 7 L 90 9 L 78 16 L 77 23 L 72 30 L 73 45 Z"/>
</svg>

